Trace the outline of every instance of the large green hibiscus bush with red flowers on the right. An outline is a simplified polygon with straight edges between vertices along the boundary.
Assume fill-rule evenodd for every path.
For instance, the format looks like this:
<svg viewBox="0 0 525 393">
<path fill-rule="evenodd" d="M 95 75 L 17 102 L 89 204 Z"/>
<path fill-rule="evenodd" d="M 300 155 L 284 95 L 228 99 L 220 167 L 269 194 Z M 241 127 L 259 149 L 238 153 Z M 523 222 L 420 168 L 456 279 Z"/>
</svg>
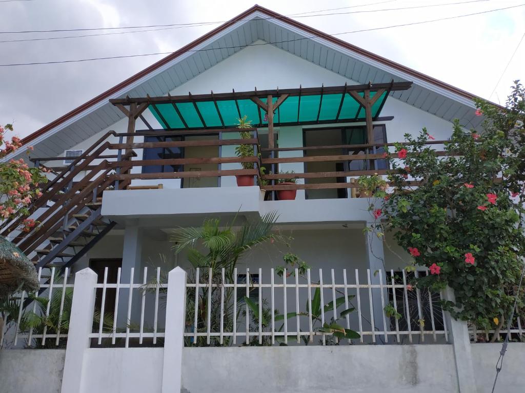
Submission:
<svg viewBox="0 0 525 393">
<path fill-rule="evenodd" d="M 483 132 L 456 120 L 443 149 L 427 145 L 433 137 L 423 129 L 387 155 L 393 192 L 376 189 L 383 203 L 370 206 L 369 230 L 392 231 L 412 257 L 408 269 L 429 268 L 417 286 L 454 290 L 455 303 L 443 304 L 454 318 L 499 330 L 523 268 L 525 89 L 515 82 L 506 108 L 476 104 Z"/>
</svg>

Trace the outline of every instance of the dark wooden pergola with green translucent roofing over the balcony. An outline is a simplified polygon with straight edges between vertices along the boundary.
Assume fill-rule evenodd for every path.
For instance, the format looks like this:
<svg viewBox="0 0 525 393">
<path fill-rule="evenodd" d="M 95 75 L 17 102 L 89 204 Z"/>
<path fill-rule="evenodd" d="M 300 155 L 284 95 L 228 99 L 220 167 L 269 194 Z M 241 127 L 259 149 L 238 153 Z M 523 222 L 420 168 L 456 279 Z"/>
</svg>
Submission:
<svg viewBox="0 0 525 393">
<path fill-rule="evenodd" d="M 366 135 L 371 143 L 373 122 L 392 119 L 379 116 L 388 94 L 407 90 L 411 85 L 412 82 L 391 81 L 282 90 L 258 91 L 255 88 L 248 92 L 126 97 L 110 102 L 128 117 L 128 134 L 135 132 L 138 118 L 154 130 L 142 115 L 147 108 L 163 126 L 163 131 L 232 128 L 233 118 L 251 114 L 255 117 L 254 122 L 258 119 L 254 127 L 268 128 L 268 148 L 273 149 L 277 125 L 366 122 Z M 132 142 L 133 136 L 128 136 L 127 143 Z"/>
</svg>

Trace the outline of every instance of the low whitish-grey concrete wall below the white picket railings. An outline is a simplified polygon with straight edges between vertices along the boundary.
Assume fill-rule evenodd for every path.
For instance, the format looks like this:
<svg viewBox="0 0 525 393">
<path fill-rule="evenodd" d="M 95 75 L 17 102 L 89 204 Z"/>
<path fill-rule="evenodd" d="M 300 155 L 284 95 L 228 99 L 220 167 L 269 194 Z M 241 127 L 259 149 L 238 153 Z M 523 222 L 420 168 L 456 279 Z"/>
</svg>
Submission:
<svg viewBox="0 0 525 393">
<path fill-rule="evenodd" d="M 477 393 L 488 393 L 501 344 L 471 350 Z M 162 354 L 163 348 L 88 350 L 81 393 L 160 392 Z M 0 351 L 0 391 L 60 392 L 64 355 Z M 525 344 L 510 343 L 496 391 L 522 391 L 523 364 Z M 451 345 L 184 348 L 182 386 L 192 393 L 458 392 Z"/>
</svg>

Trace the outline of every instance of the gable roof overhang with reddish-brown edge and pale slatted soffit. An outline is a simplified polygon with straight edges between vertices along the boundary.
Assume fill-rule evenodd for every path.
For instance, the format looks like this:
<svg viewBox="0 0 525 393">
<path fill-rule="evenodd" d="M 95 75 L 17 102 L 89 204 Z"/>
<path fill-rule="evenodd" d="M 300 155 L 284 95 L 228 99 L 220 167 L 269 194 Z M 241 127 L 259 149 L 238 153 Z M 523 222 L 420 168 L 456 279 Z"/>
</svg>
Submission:
<svg viewBox="0 0 525 393">
<path fill-rule="evenodd" d="M 270 25 L 271 29 L 268 28 Z M 281 37 L 282 32 L 286 30 L 288 39 L 275 39 L 278 30 Z M 236 35 L 233 35 L 234 31 L 237 33 Z M 24 145 L 32 143 L 35 147 L 36 156 L 41 154 L 47 156 L 60 155 L 70 146 L 95 135 L 122 118 L 120 111 L 109 105 L 108 100 L 110 98 L 125 95 L 164 95 L 176 86 L 213 67 L 217 62 L 232 56 L 245 46 L 260 39 L 270 45 L 295 53 L 297 56 L 321 65 L 321 67 L 343 74 L 358 83 L 367 83 L 369 81 L 367 78 L 372 77 L 372 71 L 375 71 L 372 78 L 373 82 L 377 83 L 389 82 L 392 79 L 395 81 L 412 80 L 414 81 L 414 88 L 408 92 L 393 92 L 391 95 L 449 121 L 454 117 L 459 117 L 464 124 L 469 123 L 473 127 L 478 126 L 481 122 L 480 118 L 474 116 L 472 99 L 477 97 L 476 95 L 327 35 L 272 10 L 255 5 L 180 50 L 155 62 L 150 67 L 38 129 L 23 138 L 22 143 Z M 302 39 L 299 41 L 301 42 L 299 45 L 297 45 L 297 41 L 290 45 L 289 42 L 298 39 Z M 306 45 L 303 45 L 303 41 L 306 41 Z M 233 42 L 234 45 L 227 45 L 226 42 Z M 310 54 L 310 42 L 313 42 L 314 49 L 319 46 L 323 52 L 327 53 L 325 59 L 321 59 L 321 56 L 316 58 Z M 306 49 L 304 49 L 305 46 Z M 206 50 L 206 52 L 200 52 L 200 50 Z M 208 50 L 213 54 L 213 57 L 209 56 Z M 331 65 L 329 64 L 328 53 L 331 56 Z M 208 59 L 204 57 L 206 55 Z M 187 64 L 190 57 L 197 58 L 197 61 L 192 63 L 195 64 L 192 67 Z M 336 65 L 336 58 L 339 65 Z M 214 60 L 215 63 L 213 63 Z M 348 69 L 351 68 L 349 67 L 351 63 L 353 63 L 353 69 L 349 73 Z M 355 70 L 356 63 L 364 64 L 360 67 L 361 71 Z M 346 64 L 345 67 L 343 64 Z M 175 65 L 180 67 L 180 71 L 176 72 L 173 69 Z M 344 71 L 343 68 L 345 68 Z M 158 79 L 160 83 L 149 83 L 152 78 Z M 46 144 L 45 139 L 47 137 L 66 129 L 69 130 L 69 133 L 61 133 L 61 138 L 49 140 Z M 76 138 L 76 135 L 80 139 Z M 23 151 L 23 148 L 20 150 Z"/>
</svg>

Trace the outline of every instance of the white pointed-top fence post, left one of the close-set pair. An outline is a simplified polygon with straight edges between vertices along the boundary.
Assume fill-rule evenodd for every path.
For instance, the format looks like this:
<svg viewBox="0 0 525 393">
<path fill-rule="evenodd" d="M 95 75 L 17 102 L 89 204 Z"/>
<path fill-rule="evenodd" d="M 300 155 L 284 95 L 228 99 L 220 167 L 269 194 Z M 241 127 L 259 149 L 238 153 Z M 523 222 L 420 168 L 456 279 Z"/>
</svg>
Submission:
<svg viewBox="0 0 525 393">
<path fill-rule="evenodd" d="M 96 285 L 97 274 L 93 270 L 86 268 L 75 274 L 61 393 L 81 390 L 82 363 L 93 326 Z"/>
</svg>

